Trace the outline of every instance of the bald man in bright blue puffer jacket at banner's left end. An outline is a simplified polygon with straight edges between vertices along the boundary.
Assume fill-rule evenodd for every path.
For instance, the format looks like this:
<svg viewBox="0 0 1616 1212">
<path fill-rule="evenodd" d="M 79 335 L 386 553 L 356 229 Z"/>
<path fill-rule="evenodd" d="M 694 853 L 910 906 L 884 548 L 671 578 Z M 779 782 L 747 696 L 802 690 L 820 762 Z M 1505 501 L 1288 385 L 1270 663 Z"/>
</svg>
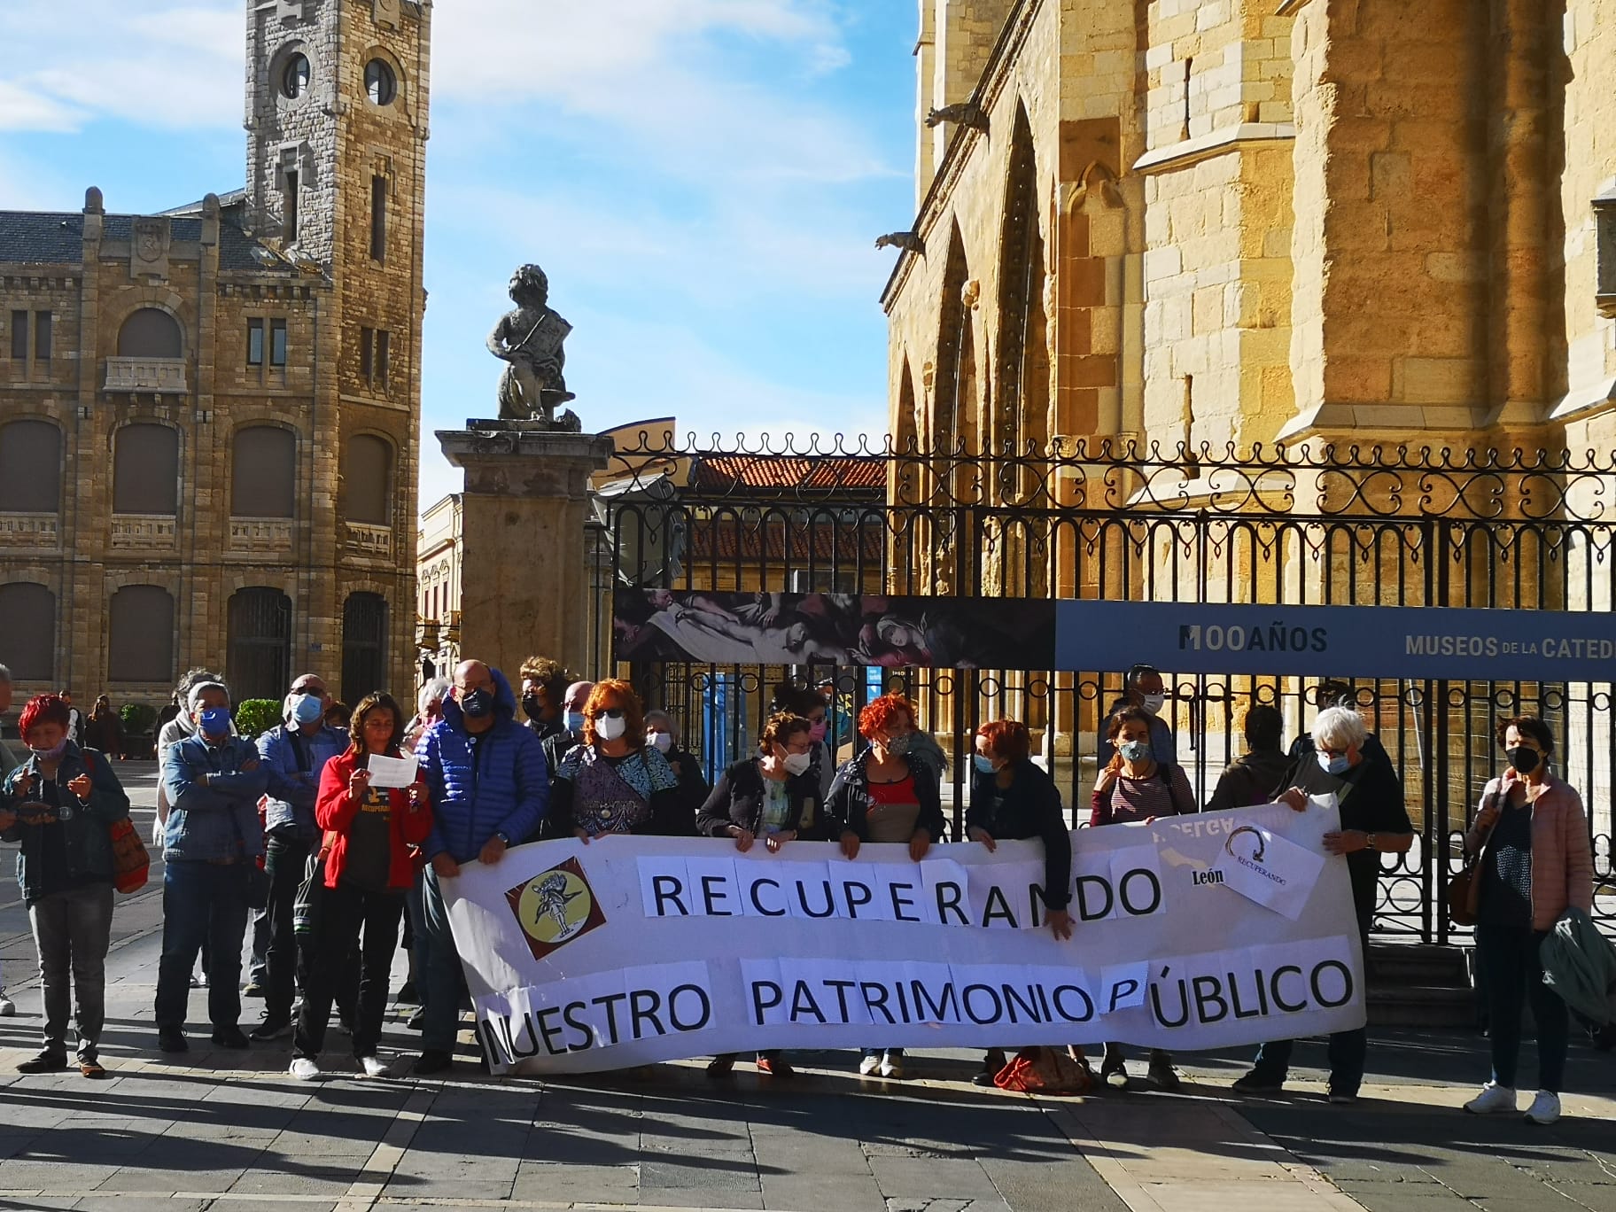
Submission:
<svg viewBox="0 0 1616 1212">
<path fill-rule="evenodd" d="M 516 719 L 516 695 L 498 669 L 465 661 L 443 700 L 443 719 L 415 747 L 431 793 L 430 866 L 422 879 L 425 1018 L 415 1073 L 452 1065 L 461 1020 L 461 966 L 443 905 L 444 879 L 473 858 L 498 863 L 532 837 L 549 802 L 549 769 L 538 735 Z"/>
</svg>

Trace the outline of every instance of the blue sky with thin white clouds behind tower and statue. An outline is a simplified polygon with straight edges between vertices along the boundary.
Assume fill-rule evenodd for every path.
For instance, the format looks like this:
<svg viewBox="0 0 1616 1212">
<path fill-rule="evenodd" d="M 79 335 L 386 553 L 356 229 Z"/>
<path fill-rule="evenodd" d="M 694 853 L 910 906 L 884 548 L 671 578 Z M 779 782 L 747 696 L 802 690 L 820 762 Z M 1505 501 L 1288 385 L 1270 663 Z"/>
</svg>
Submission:
<svg viewBox="0 0 1616 1212">
<path fill-rule="evenodd" d="M 244 6 L 0 0 L 0 208 L 239 186 Z M 431 430 L 493 409 L 525 260 L 590 428 L 882 431 L 915 29 L 913 0 L 438 0 L 423 503 L 457 488 Z"/>
</svg>

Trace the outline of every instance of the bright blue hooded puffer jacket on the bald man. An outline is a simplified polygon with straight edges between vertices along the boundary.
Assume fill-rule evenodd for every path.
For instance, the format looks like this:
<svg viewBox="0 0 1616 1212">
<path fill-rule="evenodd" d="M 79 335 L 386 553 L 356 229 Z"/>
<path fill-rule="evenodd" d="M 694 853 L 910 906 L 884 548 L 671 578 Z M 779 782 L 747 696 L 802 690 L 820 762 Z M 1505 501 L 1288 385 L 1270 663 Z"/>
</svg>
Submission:
<svg viewBox="0 0 1616 1212">
<path fill-rule="evenodd" d="M 427 858 L 469 863 L 494 834 L 511 845 L 538 831 L 549 805 L 549 768 L 538 735 L 516 719 L 516 695 L 493 669 L 494 726 L 472 735 L 457 700 L 444 696 L 443 719 L 427 729 L 415 758 L 431 795 Z"/>
</svg>

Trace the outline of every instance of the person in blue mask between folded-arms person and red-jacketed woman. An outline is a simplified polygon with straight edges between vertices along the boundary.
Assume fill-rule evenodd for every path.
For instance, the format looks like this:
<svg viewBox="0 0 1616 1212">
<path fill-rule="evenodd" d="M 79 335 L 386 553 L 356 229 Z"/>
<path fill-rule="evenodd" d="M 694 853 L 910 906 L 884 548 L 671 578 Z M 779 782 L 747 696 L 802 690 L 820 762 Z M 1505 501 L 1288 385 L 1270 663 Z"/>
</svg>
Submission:
<svg viewBox="0 0 1616 1212">
<path fill-rule="evenodd" d="M 320 842 L 314 802 L 325 763 L 347 750 L 346 732 L 325 724 L 331 703 L 325 682 L 314 674 L 292 680 L 281 705 L 281 726 L 259 737 L 259 760 L 270 779 L 263 832 L 270 876 L 270 903 L 263 907 L 263 973 L 249 979 L 247 995 L 263 997 L 263 1021 L 252 1039 L 280 1039 L 292 1029 L 292 994 L 297 976 L 297 939 L 292 932 L 292 905 L 302 884 L 309 853 Z M 254 932 L 254 958 L 260 953 Z"/>
</svg>

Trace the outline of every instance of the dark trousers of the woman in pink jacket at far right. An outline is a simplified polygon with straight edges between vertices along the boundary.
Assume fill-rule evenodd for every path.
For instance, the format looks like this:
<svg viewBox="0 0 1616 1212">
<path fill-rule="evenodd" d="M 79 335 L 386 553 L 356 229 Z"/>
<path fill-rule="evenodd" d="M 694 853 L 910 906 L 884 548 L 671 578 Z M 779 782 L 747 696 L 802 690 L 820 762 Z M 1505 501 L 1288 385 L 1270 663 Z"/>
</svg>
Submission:
<svg viewBox="0 0 1616 1212">
<path fill-rule="evenodd" d="M 1482 984 L 1487 989 L 1487 1021 L 1493 1046 L 1493 1081 L 1516 1088 L 1516 1060 L 1521 1054 L 1521 1010 L 1532 1005 L 1537 1021 L 1537 1086 L 1559 1094 L 1566 1076 L 1566 1047 L 1571 1015 L 1553 989 L 1543 984 L 1538 947 L 1548 931 L 1527 926 L 1475 928 L 1475 950 L 1482 957 Z"/>
</svg>

